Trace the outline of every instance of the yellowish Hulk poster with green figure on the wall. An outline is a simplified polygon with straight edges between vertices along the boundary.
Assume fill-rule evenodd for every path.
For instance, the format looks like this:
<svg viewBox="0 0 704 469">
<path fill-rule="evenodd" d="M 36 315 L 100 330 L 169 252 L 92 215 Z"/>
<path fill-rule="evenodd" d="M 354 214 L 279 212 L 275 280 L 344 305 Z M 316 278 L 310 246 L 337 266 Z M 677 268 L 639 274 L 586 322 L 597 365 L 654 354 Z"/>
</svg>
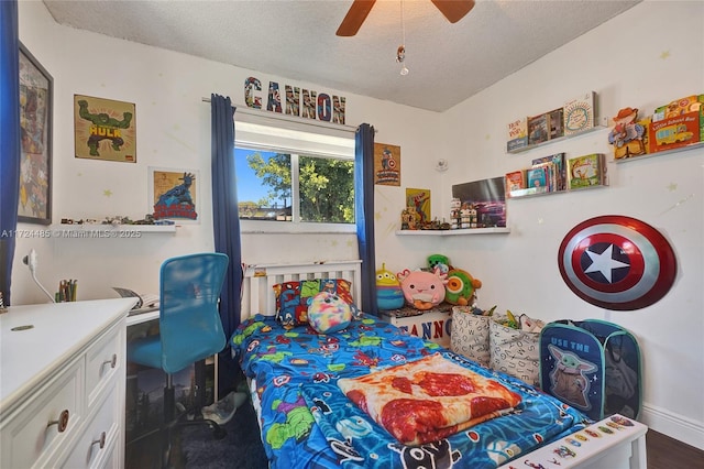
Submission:
<svg viewBox="0 0 704 469">
<path fill-rule="evenodd" d="M 136 163 L 134 103 L 74 95 L 76 157 Z"/>
</svg>

